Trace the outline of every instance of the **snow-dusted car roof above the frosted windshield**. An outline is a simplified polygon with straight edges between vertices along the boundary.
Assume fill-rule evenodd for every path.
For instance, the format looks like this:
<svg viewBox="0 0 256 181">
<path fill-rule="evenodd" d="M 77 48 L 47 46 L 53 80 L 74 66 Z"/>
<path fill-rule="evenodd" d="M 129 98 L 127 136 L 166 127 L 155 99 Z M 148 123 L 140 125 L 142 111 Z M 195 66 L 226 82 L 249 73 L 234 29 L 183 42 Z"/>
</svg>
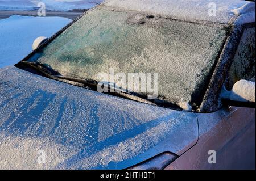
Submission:
<svg viewBox="0 0 256 181">
<path fill-rule="evenodd" d="M 208 21 L 223 24 L 228 24 L 234 15 L 240 16 L 253 12 L 243 19 L 246 23 L 255 22 L 255 2 L 241 0 L 106 0 L 102 5 L 192 22 Z M 216 6 L 216 15 L 210 16 L 208 12 L 214 6 Z"/>
</svg>

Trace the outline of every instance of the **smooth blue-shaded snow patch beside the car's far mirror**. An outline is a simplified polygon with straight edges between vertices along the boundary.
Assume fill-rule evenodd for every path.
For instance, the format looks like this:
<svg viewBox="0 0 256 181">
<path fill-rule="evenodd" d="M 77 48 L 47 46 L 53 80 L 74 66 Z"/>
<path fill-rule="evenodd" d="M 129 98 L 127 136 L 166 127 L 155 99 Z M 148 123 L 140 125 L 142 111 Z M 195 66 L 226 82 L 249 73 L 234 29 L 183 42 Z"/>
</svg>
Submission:
<svg viewBox="0 0 256 181">
<path fill-rule="evenodd" d="M 22 60 L 38 36 L 51 37 L 72 20 L 13 15 L 0 20 L 0 68 Z"/>
</svg>

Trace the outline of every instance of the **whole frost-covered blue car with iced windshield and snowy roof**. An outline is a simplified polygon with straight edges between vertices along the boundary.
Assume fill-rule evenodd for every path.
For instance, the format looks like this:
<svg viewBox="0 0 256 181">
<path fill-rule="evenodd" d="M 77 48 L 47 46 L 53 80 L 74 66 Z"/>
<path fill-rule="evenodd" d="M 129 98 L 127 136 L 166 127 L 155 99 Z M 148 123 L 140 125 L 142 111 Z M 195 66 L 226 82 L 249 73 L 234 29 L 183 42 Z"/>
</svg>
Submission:
<svg viewBox="0 0 256 181">
<path fill-rule="evenodd" d="M 104 1 L 33 49 L 0 169 L 255 169 L 255 2 Z"/>
</svg>

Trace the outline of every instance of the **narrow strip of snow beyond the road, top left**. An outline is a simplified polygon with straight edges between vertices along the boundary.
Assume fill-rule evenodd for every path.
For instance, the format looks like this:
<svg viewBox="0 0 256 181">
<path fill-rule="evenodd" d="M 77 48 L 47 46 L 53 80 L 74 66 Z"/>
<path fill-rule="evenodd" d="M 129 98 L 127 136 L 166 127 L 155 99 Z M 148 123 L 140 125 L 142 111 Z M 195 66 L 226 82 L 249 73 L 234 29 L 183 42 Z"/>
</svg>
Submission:
<svg viewBox="0 0 256 181">
<path fill-rule="evenodd" d="M 47 10 L 68 11 L 90 9 L 102 0 L 0 0 L 0 10 L 30 11 L 34 10 L 39 2 L 45 3 Z"/>
</svg>

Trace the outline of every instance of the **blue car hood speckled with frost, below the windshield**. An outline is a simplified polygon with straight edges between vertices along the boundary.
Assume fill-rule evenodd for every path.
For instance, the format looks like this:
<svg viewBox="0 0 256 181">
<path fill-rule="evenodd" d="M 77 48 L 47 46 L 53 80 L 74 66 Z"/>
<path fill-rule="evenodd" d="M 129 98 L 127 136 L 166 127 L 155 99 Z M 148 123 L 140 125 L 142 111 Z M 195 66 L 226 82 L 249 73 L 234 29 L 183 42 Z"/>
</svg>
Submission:
<svg viewBox="0 0 256 181">
<path fill-rule="evenodd" d="M 125 169 L 197 139 L 194 113 L 0 69 L 1 169 Z"/>
</svg>

